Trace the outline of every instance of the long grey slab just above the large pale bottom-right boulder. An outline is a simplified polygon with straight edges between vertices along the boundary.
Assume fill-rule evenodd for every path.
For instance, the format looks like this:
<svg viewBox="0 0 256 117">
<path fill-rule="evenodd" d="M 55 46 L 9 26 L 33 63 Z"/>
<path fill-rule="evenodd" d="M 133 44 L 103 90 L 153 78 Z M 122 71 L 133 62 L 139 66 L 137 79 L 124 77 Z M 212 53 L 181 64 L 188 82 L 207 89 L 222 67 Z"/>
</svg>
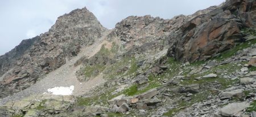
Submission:
<svg viewBox="0 0 256 117">
<path fill-rule="evenodd" d="M 245 97 L 245 93 L 243 93 L 243 89 L 232 90 L 230 92 L 221 92 L 219 94 L 220 97 Z"/>
</svg>

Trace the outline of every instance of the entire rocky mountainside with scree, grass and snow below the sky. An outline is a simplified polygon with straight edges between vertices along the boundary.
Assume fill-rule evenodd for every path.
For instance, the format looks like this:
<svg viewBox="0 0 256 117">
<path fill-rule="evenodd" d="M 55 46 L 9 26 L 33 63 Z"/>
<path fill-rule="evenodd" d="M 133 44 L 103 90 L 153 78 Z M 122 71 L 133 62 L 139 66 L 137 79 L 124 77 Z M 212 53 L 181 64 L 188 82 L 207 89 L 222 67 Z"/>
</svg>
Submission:
<svg viewBox="0 0 256 117">
<path fill-rule="evenodd" d="M 86 8 L 0 56 L 0 116 L 256 116 L 256 1 L 104 28 Z"/>
</svg>

